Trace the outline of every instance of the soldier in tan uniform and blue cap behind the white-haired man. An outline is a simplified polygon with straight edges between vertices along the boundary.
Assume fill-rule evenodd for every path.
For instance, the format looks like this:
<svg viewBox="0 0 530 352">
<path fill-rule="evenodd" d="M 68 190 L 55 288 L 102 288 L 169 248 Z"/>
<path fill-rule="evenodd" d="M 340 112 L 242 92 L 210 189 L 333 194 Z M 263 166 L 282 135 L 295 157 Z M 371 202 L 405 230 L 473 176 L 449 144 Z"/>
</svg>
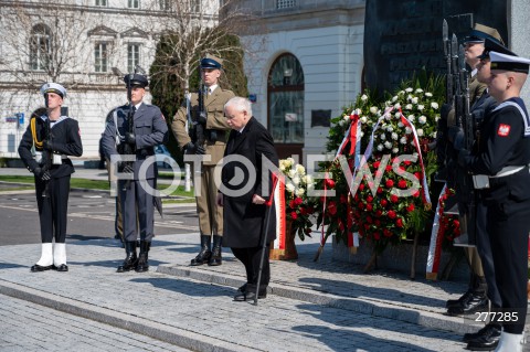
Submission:
<svg viewBox="0 0 530 352">
<path fill-rule="evenodd" d="M 177 111 L 171 124 L 171 129 L 186 153 L 206 154 L 208 160 L 202 161 L 200 196 L 197 196 L 197 212 L 199 213 L 199 228 L 201 232 L 201 250 L 191 260 L 192 266 L 209 264 L 212 266 L 222 264 L 223 239 L 223 210 L 216 205 L 218 186 L 214 182 L 215 164 L 223 158 L 226 146 L 226 131 L 230 130 L 224 118 L 224 104 L 234 97 L 232 90 L 219 86 L 222 60 L 206 55 L 201 60 L 201 76 L 206 88 L 204 92 L 205 118 L 199 111 L 199 94 L 191 94 L 190 109 L 194 124 L 201 124 L 204 129 L 204 143 L 200 146 L 192 140 L 187 130 L 187 107 L 182 106 Z M 195 191 L 197 192 L 197 191 Z M 212 244 L 213 236 L 213 246 Z"/>
</svg>

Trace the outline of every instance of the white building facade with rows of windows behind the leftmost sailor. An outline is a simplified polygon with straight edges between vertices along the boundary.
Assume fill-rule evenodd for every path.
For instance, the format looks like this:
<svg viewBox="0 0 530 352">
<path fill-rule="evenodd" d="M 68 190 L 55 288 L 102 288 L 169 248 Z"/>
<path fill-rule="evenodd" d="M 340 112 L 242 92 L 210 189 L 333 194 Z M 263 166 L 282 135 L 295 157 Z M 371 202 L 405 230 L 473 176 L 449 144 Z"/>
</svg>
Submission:
<svg viewBox="0 0 530 352">
<path fill-rule="evenodd" d="M 44 106 L 45 82 L 66 87 L 83 158 L 98 158 L 107 114 L 127 102 L 124 74 L 149 72 L 160 34 L 177 20 L 214 25 L 218 11 L 206 0 L 0 0 L 0 158 L 18 158 L 32 113 Z"/>
</svg>

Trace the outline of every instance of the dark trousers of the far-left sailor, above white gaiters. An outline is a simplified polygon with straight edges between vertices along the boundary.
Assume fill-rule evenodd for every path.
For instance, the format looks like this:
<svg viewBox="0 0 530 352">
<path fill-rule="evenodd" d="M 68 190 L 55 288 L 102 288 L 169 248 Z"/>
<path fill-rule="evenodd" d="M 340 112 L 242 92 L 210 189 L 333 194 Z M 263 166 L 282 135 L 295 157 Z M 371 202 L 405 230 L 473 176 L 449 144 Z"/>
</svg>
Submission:
<svg viewBox="0 0 530 352">
<path fill-rule="evenodd" d="M 44 190 L 47 183 L 46 196 Z M 42 243 L 65 243 L 68 212 L 70 175 L 42 181 L 35 178 L 36 206 L 41 223 Z"/>
</svg>

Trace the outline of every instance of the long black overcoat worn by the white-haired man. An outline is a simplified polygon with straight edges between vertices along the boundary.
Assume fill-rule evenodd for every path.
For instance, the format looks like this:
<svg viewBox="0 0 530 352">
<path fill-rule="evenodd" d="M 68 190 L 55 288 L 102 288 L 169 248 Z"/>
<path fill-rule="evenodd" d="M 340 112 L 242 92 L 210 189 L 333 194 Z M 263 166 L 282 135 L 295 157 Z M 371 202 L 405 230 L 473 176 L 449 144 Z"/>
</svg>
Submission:
<svg viewBox="0 0 530 352">
<path fill-rule="evenodd" d="M 229 194 L 232 192 L 223 192 L 223 246 L 232 248 L 261 246 L 263 244 L 263 235 L 266 227 L 266 213 L 271 207 L 267 207 L 264 204 L 253 204 L 252 196 L 258 194 L 266 200 L 269 199 L 272 191 L 272 173 L 268 169 L 271 168 L 271 163 L 276 168 L 278 167 L 278 156 L 274 149 L 273 137 L 265 127 L 263 127 L 254 117 L 251 117 L 241 135 L 239 131 L 231 131 L 224 154 L 225 160 L 226 157 L 230 157 L 230 159 L 243 157 L 246 159 L 246 164 L 248 167 L 252 166 L 254 169 L 248 170 L 246 167 L 242 167 L 242 163 L 237 161 L 224 163 L 223 166 L 222 181 L 223 185 L 227 189 L 232 191 L 235 190 L 237 186 L 231 185 L 231 183 L 234 182 L 237 182 L 240 188 L 247 184 L 248 181 L 252 182 L 252 184 L 250 184 L 250 191 L 244 194 L 234 196 Z M 263 163 L 263 161 L 265 162 Z M 263 180 L 262 170 L 265 175 Z M 241 178 L 242 171 L 244 173 L 243 178 Z M 255 178 L 252 178 L 252 173 L 255 174 Z M 243 183 L 239 182 L 241 180 L 243 180 Z M 276 238 L 274 204 L 272 211 L 267 242 Z"/>
</svg>

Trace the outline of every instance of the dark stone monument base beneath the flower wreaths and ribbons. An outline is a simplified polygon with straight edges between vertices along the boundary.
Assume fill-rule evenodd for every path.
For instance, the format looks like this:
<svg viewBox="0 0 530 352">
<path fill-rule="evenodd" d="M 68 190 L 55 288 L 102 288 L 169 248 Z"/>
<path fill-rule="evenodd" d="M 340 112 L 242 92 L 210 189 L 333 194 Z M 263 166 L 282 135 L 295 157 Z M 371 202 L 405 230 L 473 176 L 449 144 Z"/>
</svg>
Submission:
<svg viewBox="0 0 530 352">
<path fill-rule="evenodd" d="M 372 245 L 370 242 L 361 241 L 359 247 L 356 250 L 350 250 L 342 241 L 337 243 L 336 236 L 332 236 L 332 258 L 333 260 L 348 262 L 358 265 L 367 265 L 372 257 Z M 411 263 L 412 263 L 412 241 L 403 242 L 398 246 L 389 246 L 384 252 L 377 258 L 377 267 L 379 269 L 391 269 L 401 273 L 411 273 Z M 463 250 L 456 248 L 456 250 Z M 426 274 L 426 263 L 428 255 L 428 246 L 418 245 L 416 248 L 416 265 L 415 265 L 415 277 L 425 278 Z M 451 253 L 442 252 L 441 265 L 438 269 L 437 279 L 442 279 L 442 271 L 451 259 Z M 466 258 L 463 256 L 458 263 L 453 266 L 449 280 L 469 280 L 469 266 L 466 263 Z"/>
</svg>

